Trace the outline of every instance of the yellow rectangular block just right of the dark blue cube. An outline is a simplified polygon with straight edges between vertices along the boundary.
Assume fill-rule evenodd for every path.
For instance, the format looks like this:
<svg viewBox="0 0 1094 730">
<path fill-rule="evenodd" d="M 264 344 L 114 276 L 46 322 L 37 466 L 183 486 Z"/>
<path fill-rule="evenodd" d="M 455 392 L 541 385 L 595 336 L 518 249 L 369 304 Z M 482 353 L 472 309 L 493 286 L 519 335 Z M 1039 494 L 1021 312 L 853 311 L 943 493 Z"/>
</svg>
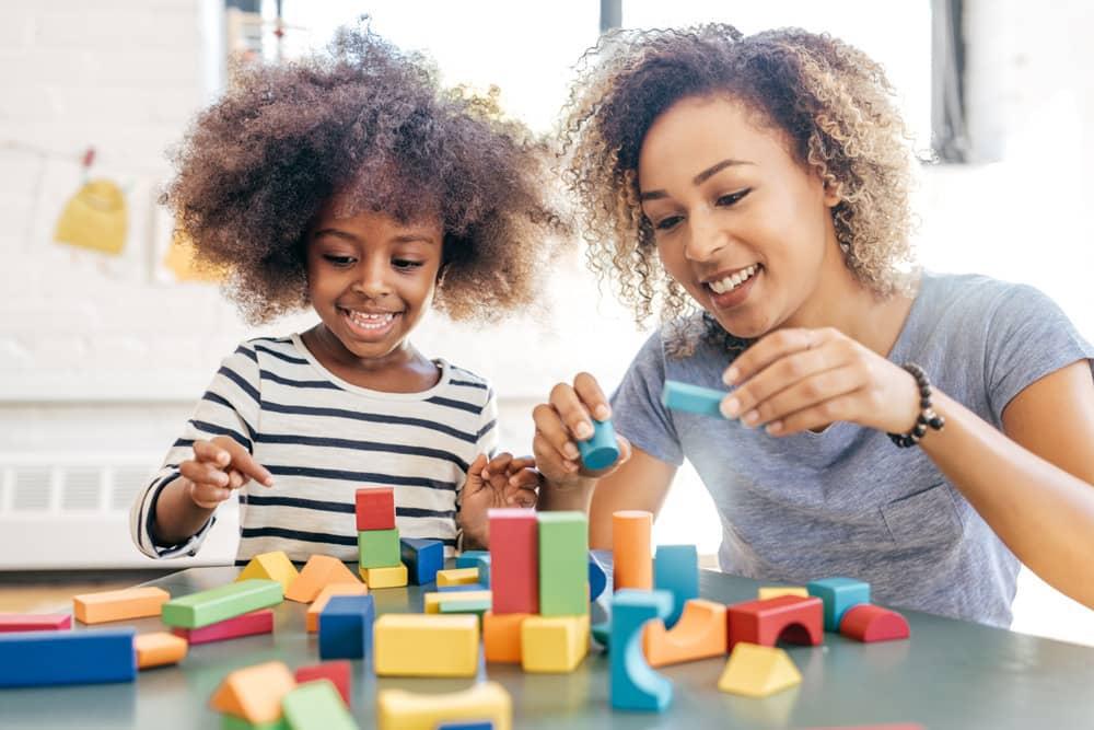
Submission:
<svg viewBox="0 0 1094 730">
<path fill-rule="evenodd" d="M 376 619 L 373 631 L 376 676 L 475 676 L 478 672 L 477 616 L 388 613 Z"/>
</svg>

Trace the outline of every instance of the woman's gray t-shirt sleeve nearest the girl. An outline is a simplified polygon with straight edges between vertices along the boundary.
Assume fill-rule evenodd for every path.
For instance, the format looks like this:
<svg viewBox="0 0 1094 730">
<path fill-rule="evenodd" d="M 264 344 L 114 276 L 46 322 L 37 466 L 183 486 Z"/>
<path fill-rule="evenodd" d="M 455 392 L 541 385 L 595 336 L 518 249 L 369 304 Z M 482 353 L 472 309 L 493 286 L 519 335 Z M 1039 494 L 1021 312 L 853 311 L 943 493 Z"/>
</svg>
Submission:
<svg viewBox="0 0 1094 730">
<path fill-rule="evenodd" d="M 665 384 L 665 356 L 661 334 L 654 333 L 631 361 L 612 395 L 616 432 L 654 459 L 679 466 L 684 450 L 672 414 L 661 404 Z"/>
</svg>

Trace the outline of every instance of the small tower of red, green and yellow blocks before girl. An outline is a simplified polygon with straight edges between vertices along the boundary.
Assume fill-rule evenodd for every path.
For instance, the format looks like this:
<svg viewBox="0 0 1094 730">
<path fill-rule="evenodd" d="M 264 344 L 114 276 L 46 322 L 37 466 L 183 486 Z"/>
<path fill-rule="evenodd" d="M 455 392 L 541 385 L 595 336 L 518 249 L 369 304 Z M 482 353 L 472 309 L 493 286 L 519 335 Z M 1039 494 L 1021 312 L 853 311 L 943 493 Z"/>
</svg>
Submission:
<svg viewBox="0 0 1094 730">
<path fill-rule="evenodd" d="M 358 489 L 354 511 L 361 580 L 369 588 L 406 586 L 407 568 L 401 563 L 399 530 L 395 526 L 395 490 Z"/>
</svg>

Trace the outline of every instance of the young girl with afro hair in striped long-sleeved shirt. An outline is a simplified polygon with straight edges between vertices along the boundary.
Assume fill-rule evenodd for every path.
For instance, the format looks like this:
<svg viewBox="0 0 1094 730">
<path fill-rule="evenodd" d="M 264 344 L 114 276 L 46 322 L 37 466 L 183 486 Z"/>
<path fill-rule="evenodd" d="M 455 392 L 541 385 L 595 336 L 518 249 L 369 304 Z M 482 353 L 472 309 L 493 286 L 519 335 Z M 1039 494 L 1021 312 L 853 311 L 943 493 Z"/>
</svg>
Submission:
<svg viewBox="0 0 1094 730">
<path fill-rule="evenodd" d="M 234 81 L 166 200 L 251 321 L 311 305 L 318 323 L 224 360 L 138 497 L 133 541 L 194 555 L 238 494 L 238 561 L 356 560 L 354 490 L 391 486 L 403 536 L 485 544 L 486 509 L 534 503 L 538 475 L 493 455 L 489 384 L 408 337 L 434 297 L 462 320 L 531 301 L 559 240 L 539 148 L 369 31 Z"/>
</svg>

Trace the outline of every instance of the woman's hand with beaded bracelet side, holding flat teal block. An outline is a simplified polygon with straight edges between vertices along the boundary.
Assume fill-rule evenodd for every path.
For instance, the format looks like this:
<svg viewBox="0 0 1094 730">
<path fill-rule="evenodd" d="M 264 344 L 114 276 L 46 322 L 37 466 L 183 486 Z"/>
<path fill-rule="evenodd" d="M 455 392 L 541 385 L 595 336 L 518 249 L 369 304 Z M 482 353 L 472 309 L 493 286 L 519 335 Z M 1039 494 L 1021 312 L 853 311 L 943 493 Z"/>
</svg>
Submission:
<svg viewBox="0 0 1094 730">
<path fill-rule="evenodd" d="M 722 415 L 771 436 L 837 420 L 905 433 L 919 416 L 911 373 L 831 327 L 761 337 L 722 380 L 740 385 L 722 399 Z"/>
</svg>

